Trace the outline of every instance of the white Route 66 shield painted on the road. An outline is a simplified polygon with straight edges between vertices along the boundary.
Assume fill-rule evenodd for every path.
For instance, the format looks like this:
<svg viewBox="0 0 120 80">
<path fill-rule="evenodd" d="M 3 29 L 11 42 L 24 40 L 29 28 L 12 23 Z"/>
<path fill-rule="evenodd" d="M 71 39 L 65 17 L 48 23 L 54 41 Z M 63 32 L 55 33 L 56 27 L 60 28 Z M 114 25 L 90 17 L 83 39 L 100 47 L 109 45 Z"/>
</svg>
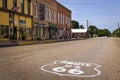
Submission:
<svg viewBox="0 0 120 80">
<path fill-rule="evenodd" d="M 95 77 L 101 73 L 99 67 L 101 65 L 95 63 L 63 60 L 44 65 L 41 69 L 60 76 Z"/>
</svg>

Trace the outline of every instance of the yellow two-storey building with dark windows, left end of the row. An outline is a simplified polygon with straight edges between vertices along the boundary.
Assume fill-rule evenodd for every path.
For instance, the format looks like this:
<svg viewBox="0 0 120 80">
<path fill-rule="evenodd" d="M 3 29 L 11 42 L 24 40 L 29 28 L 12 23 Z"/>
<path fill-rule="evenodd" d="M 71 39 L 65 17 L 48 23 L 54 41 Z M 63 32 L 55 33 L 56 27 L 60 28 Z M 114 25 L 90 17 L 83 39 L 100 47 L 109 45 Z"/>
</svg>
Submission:
<svg viewBox="0 0 120 80">
<path fill-rule="evenodd" d="M 0 40 L 32 39 L 32 0 L 0 0 Z"/>
</svg>

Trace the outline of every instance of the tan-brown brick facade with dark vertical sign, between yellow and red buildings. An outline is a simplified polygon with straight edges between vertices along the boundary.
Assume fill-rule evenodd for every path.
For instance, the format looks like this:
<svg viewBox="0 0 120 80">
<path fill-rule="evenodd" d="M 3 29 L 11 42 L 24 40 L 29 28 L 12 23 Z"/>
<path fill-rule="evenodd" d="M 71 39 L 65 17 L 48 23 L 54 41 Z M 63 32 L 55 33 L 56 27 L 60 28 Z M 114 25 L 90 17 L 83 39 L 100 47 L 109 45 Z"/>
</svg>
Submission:
<svg viewBox="0 0 120 80">
<path fill-rule="evenodd" d="M 34 0 L 34 39 L 55 39 L 57 24 L 56 0 Z"/>
</svg>

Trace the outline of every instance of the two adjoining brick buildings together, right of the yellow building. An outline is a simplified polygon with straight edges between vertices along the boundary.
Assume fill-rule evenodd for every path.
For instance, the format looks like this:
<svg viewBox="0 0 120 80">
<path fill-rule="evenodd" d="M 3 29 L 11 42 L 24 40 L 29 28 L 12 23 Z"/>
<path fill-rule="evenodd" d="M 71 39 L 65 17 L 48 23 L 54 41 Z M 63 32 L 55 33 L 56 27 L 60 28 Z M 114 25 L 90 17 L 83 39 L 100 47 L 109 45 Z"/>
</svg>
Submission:
<svg viewBox="0 0 120 80">
<path fill-rule="evenodd" d="M 57 39 L 60 34 L 69 38 L 70 21 L 71 11 L 56 0 L 34 0 L 34 39 Z"/>
</svg>

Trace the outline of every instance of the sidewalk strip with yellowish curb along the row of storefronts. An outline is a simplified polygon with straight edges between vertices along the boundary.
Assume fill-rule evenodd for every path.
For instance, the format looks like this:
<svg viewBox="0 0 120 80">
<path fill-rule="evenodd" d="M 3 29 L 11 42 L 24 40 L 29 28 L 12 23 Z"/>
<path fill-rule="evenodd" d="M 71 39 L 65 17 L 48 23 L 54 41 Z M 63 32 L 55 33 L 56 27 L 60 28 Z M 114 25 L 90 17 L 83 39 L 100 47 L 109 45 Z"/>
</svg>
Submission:
<svg viewBox="0 0 120 80">
<path fill-rule="evenodd" d="M 65 41 L 73 41 L 76 39 L 62 39 L 62 40 L 25 40 L 25 41 L 0 41 L 0 48 L 3 47 L 11 47 L 11 46 L 23 46 L 23 45 L 33 45 L 33 44 L 45 44 L 45 43 L 53 43 L 53 42 L 65 42 Z"/>
</svg>

